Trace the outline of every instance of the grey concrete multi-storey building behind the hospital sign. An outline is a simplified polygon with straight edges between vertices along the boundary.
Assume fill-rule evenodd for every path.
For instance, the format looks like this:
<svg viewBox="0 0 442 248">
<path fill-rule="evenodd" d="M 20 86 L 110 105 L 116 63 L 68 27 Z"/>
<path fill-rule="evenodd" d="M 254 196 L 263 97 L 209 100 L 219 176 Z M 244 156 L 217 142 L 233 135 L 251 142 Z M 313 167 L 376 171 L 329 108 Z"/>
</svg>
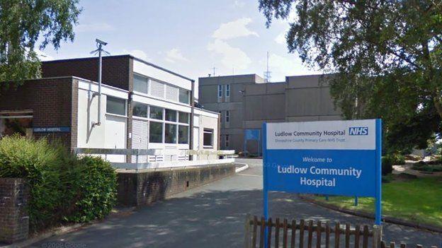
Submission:
<svg viewBox="0 0 442 248">
<path fill-rule="evenodd" d="M 263 122 L 342 119 L 334 107 L 327 75 L 286 76 L 266 83 L 256 74 L 198 78 L 199 103 L 220 112 L 220 146 L 261 154 Z"/>
</svg>

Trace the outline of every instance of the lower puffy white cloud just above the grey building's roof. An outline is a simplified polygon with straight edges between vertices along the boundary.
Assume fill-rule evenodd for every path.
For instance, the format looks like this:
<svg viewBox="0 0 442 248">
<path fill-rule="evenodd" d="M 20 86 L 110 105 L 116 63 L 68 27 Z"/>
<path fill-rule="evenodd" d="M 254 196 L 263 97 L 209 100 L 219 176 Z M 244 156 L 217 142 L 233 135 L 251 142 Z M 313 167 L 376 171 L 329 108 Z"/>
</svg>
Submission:
<svg viewBox="0 0 442 248">
<path fill-rule="evenodd" d="M 208 44 L 207 49 L 222 55 L 221 63 L 226 68 L 244 70 L 251 64 L 247 54 L 237 47 L 232 47 L 223 40 L 214 40 Z"/>
</svg>

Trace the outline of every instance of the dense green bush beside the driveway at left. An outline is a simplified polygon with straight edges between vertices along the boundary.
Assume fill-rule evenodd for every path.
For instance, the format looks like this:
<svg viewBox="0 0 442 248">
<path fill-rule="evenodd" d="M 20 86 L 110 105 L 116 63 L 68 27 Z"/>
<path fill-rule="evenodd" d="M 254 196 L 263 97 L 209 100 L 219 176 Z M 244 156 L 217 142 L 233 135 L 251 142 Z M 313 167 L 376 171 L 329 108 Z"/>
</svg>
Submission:
<svg viewBox="0 0 442 248">
<path fill-rule="evenodd" d="M 77 158 L 45 139 L 0 139 L 0 177 L 26 179 L 31 230 L 103 218 L 116 199 L 116 175 L 109 163 Z"/>
</svg>

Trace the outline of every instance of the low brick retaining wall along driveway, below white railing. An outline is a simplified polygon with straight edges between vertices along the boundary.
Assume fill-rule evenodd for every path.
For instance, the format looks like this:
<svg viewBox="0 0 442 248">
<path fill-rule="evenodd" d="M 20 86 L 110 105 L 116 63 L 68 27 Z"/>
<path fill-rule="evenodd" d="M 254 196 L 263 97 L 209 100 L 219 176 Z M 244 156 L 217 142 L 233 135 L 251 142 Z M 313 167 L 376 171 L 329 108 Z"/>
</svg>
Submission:
<svg viewBox="0 0 442 248">
<path fill-rule="evenodd" d="M 118 172 L 118 203 L 143 206 L 234 175 L 234 163 L 187 168 Z"/>
</svg>

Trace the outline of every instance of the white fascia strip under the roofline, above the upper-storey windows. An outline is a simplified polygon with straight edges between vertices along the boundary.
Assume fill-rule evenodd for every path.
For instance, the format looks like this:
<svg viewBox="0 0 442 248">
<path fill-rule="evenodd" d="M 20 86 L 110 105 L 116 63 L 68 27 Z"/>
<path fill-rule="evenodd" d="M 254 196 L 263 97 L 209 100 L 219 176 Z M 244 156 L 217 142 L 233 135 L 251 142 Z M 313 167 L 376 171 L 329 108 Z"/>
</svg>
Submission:
<svg viewBox="0 0 442 248">
<path fill-rule="evenodd" d="M 179 86 L 180 88 L 185 88 L 186 90 L 191 90 L 192 88 L 191 81 L 185 78 L 181 78 L 180 76 L 176 76 L 173 73 L 155 68 L 154 66 L 145 64 L 142 61 L 137 61 L 136 59 L 134 59 L 133 63 L 133 71 L 136 73 L 140 73 L 151 78 L 156 78 L 160 81 L 171 83 L 173 85 Z"/>
</svg>

